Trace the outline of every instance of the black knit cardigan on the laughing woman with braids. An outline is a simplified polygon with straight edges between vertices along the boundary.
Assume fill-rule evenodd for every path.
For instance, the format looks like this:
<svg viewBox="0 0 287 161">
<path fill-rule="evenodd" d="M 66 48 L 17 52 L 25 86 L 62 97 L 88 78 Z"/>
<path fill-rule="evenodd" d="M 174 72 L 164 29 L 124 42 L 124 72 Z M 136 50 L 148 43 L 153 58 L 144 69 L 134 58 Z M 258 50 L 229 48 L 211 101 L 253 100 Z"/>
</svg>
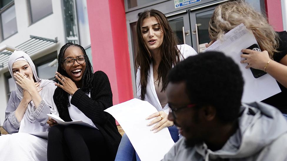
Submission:
<svg viewBox="0 0 287 161">
<path fill-rule="evenodd" d="M 121 141 L 121 134 L 118 131 L 114 117 L 104 111 L 113 106 L 113 94 L 108 76 L 102 71 L 95 72 L 93 85 L 91 98 L 84 91 L 78 89 L 71 98 L 71 104 L 82 111 L 99 128 L 111 154 L 111 158 L 107 158 L 107 160 L 114 160 Z M 53 96 L 54 100 L 56 95 L 59 94 L 59 90 L 62 89 L 57 87 Z M 60 117 L 64 121 L 72 121 L 68 108 L 59 108 L 59 104 L 56 101 L 55 104 Z"/>
</svg>

